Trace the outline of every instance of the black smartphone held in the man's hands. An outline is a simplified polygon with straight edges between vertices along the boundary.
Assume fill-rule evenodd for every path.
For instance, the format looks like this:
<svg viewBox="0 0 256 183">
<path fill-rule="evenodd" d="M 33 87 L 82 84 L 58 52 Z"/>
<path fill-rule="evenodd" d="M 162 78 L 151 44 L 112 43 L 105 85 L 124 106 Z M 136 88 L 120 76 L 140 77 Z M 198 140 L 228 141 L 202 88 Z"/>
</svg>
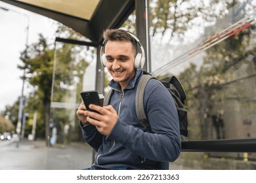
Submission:
<svg viewBox="0 0 256 183">
<path fill-rule="evenodd" d="M 87 110 L 98 112 L 96 110 L 92 110 L 91 108 L 89 108 L 90 104 L 102 106 L 102 103 L 100 102 L 100 97 L 98 97 L 98 92 L 85 91 L 85 92 L 80 92 L 80 94 L 83 99 L 83 103 L 85 103 L 85 107 L 87 108 Z"/>
</svg>

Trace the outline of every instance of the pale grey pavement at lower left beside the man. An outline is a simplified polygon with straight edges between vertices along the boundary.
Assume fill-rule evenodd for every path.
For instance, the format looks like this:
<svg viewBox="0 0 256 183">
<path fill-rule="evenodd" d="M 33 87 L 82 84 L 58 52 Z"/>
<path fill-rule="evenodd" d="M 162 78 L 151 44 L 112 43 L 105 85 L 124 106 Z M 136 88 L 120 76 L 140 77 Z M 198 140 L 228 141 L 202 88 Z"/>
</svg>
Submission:
<svg viewBox="0 0 256 183">
<path fill-rule="evenodd" d="M 0 170 L 79 170 L 92 164 L 92 148 L 85 142 L 47 147 L 45 141 L 0 141 Z"/>
</svg>

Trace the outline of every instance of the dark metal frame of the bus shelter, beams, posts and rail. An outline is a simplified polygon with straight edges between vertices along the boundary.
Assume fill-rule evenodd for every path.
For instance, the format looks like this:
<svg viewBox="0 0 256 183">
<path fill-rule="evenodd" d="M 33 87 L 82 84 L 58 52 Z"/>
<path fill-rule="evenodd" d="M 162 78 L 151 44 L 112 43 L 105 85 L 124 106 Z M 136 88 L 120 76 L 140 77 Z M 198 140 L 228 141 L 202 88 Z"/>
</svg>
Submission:
<svg viewBox="0 0 256 183">
<path fill-rule="evenodd" d="M 137 17 L 137 37 L 139 37 L 142 45 L 146 47 L 145 53 L 146 59 L 148 60 L 143 69 L 149 72 L 151 70 L 149 64 L 150 54 L 148 54 L 150 53 L 150 46 L 148 46 L 150 45 L 148 20 L 145 18 L 146 16 L 144 16 L 144 14 L 147 14 L 148 0 L 100 0 L 91 20 L 85 20 L 47 8 L 37 7 L 22 1 L 0 1 L 52 18 L 90 39 L 92 42 L 81 42 L 62 38 L 56 38 L 56 41 L 94 46 L 97 48 L 96 90 L 102 93 L 104 92 L 104 69 L 100 65 L 100 47 L 103 41 L 101 37 L 102 31 L 108 28 L 120 27 L 135 10 Z M 108 16 L 106 16 L 106 14 Z M 187 141 L 182 142 L 182 152 L 256 152 L 256 139 Z"/>
</svg>

